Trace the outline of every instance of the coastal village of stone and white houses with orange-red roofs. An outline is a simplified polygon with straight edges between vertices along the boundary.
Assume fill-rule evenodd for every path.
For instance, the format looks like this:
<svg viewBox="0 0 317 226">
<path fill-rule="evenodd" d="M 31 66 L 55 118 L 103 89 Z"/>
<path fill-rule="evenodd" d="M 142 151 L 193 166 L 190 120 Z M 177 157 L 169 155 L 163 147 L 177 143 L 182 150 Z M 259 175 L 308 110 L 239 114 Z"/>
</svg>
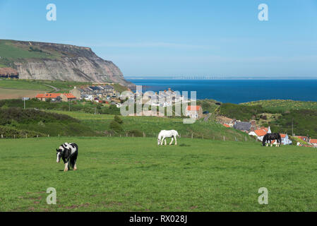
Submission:
<svg viewBox="0 0 317 226">
<path fill-rule="evenodd" d="M 129 90 L 131 91 L 131 90 Z M 186 102 L 184 96 L 179 95 L 179 92 L 168 88 L 167 90 L 162 90 L 160 92 L 129 92 L 130 96 L 134 99 L 140 100 L 140 104 L 148 104 L 153 107 L 172 107 L 181 103 Z M 86 100 L 90 102 L 97 102 L 105 105 L 115 105 L 116 107 L 122 106 L 121 93 L 114 89 L 111 84 L 104 85 L 86 85 L 80 88 L 74 87 L 69 93 L 39 93 L 37 94 L 37 100 L 41 101 L 51 101 L 51 102 L 71 102 L 75 100 Z M 189 105 L 190 101 L 187 101 Z M 191 119 L 204 119 L 207 120 L 210 117 L 208 111 L 203 112 L 203 107 L 201 105 L 189 105 L 186 107 L 185 114 L 186 117 Z M 140 114 L 128 114 L 131 117 L 140 116 L 156 116 L 164 117 L 164 115 L 154 115 L 152 112 L 143 111 Z M 217 116 L 216 121 L 219 124 L 227 128 L 237 129 L 248 133 L 249 136 L 254 137 L 257 141 L 263 141 L 263 137 L 267 133 L 272 133 L 270 126 L 263 127 L 256 124 L 256 120 L 251 121 L 239 121 L 236 119 L 230 119 L 228 117 Z M 277 132 L 277 131 L 273 131 Z M 282 145 L 292 145 L 291 136 L 297 140 L 296 145 L 317 148 L 317 139 L 310 138 L 309 136 L 297 136 L 292 134 L 289 136 L 287 133 L 280 133 L 282 138 Z M 273 141 L 273 145 L 277 144 L 277 141 Z"/>
</svg>

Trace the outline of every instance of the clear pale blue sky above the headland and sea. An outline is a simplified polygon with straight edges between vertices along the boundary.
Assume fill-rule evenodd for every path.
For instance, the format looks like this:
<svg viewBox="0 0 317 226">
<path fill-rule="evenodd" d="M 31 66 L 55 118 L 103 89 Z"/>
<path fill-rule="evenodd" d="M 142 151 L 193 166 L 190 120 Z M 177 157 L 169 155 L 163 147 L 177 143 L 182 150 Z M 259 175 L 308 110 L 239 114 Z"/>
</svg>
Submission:
<svg viewBox="0 0 317 226">
<path fill-rule="evenodd" d="M 0 0 L 0 28 L 0 39 L 91 47 L 124 76 L 317 78 L 317 0 Z"/>
</svg>

